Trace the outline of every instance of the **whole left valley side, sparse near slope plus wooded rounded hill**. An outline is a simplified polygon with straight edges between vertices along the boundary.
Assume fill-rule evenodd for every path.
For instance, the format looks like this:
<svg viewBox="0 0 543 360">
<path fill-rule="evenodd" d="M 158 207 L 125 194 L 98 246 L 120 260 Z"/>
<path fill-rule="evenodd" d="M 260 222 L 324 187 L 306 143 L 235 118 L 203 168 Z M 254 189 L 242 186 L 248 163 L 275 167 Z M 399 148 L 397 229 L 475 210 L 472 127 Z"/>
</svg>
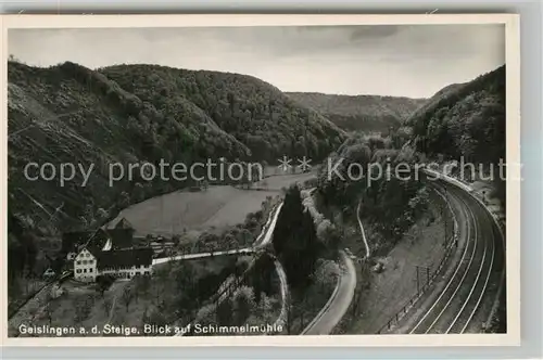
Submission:
<svg viewBox="0 0 543 360">
<path fill-rule="evenodd" d="M 130 203 L 190 185 L 124 179 L 112 163 L 190 166 L 207 158 L 275 162 L 323 158 L 343 131 L 256 78 L 151 65 L 91 70 L 9 62 L 10 275 L 33 270 L 33 239 L 92 228 Z M 71 181 L 29 181 L 29 162 L 76 166 Z M 86 187 L 79 167 L 93 171 Z M 36 175 L 36 170 L 31 172 Z M 51 175 L 51 168 L 46 171 Z"/>
</svg>

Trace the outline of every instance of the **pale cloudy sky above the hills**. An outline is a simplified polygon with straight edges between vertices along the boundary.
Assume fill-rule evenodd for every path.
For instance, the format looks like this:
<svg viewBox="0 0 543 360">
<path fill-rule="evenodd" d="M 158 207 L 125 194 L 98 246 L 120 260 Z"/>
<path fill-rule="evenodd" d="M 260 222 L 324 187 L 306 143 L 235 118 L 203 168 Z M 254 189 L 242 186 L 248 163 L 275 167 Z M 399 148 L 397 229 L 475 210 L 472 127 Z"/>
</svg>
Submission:
<svg viewBox="0 0 543 360">
<path fill-rule="evenodd" d="M 505 63 L 503 25 L 10 29 L 29 65 L 160 64 L 252 75 L 282 91 L 429 98 Z"/>
</svg>

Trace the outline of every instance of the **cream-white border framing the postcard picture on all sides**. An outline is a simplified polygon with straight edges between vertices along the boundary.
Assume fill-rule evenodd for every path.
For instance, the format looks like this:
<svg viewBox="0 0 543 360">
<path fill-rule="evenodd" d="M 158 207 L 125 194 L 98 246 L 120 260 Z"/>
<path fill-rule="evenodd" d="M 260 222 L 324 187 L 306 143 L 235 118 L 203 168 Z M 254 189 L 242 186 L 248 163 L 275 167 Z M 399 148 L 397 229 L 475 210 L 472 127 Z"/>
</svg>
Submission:
<svg viewBox="0 0 543 360">
<path fill-rule="evenodd" d="M 2 15 L 1 147 L 4 208 L 8 198 L 8 30 L 10 28 L 126 28 L 219 26 L 315 26 L 315 25 L 446 25 L 504 24 L 506 39 L 506 143 L 507 164 L 520 164 L 520 35 L 516 14 L 383 14 L 383 15 Z M 509 179 L 520 179 L 520 168 L 508 168 Z M 519 346 L 520 345 L 520 181 L 507 181 L 506 288 L 507 334 L 447 335 L 318 335 L 318 336 L 204 336 L 204 337 L 8 337 L 8 288 L 0 301 L 5 346 Z M 7 233 L 7 218 L 1 217 Z M 8 242 L 2 242 L 2 284 L 7 284 Z"/>
</svg>

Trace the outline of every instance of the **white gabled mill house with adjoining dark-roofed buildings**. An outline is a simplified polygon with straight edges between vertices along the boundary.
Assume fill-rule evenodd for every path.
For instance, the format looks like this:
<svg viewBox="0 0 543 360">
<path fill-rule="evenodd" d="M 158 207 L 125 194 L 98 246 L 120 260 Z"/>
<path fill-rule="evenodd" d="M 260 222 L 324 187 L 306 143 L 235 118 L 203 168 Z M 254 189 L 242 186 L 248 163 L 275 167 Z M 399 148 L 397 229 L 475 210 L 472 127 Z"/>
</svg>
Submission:
<svg viewBox="0 0 543 360">
<path fill-rule="evenodd" d="M 153 249 L 135 243 L 134 228 L 121 219 L 114 228 L 67 232 L 62 252 L 74 263 L 74 279 L 94 282 L 99 275 L 131 279 L 152 272 Z"/>
</svg>

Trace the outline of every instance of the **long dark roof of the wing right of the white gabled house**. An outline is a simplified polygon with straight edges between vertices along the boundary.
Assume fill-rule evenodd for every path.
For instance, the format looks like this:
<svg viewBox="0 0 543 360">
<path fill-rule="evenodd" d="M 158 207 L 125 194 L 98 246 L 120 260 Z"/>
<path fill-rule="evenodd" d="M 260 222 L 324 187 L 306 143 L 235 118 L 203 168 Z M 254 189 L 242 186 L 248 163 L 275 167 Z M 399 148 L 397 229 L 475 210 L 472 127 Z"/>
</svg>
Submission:
<svg viewBox="0 0 543 360">
<path fill-rule="evenodd" d="M 153 250 L 150 247 L 129 248 L 121 250 L 109 250 L 98 253 L 98 269 L 104 268 L 129 268 L 132 266 L 151 266 L 153 262 Z"/>
</svg>

